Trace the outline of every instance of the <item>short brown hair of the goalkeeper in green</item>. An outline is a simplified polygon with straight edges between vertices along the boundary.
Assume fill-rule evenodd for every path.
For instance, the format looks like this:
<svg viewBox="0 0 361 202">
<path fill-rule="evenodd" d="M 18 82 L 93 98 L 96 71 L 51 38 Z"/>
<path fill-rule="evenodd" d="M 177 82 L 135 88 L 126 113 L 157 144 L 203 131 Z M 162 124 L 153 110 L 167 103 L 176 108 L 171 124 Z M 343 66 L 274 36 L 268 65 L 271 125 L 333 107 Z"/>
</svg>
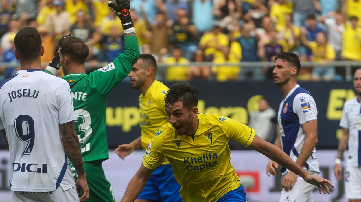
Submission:
<svg viewBox="0 0 361 202">
<path fill-rule="evenodd" d="M 59 52 L 77 64 L 84 64 L 89 55 L 88 45 L 79 37 L 68 36 L 59 40 Z"/>
</svg>

